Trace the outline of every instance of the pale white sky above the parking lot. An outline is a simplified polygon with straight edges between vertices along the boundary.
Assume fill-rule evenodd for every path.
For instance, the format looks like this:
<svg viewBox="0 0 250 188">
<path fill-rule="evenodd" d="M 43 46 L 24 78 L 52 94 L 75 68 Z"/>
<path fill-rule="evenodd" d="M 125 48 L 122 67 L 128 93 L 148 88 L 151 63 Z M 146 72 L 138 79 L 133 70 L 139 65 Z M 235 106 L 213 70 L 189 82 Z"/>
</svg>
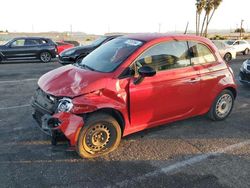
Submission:
<svg viewBox="0 0 250 188">
<path fill-rule="evenodd" d="M 250 30 L 250 0 L 223 0 L 209 29 Z M 174 32 L 195 30 L 195 0 L 1 0 L 0 30 Z"/>
</svg>

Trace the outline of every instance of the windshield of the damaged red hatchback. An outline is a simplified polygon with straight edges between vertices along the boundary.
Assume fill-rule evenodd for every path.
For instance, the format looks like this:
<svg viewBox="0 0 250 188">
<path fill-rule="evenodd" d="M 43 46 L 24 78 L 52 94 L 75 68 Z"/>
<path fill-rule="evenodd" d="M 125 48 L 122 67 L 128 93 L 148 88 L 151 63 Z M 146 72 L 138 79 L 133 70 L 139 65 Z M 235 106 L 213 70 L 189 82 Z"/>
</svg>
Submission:
<svg viewBox="0 0 250 188">
<path fill-rule="evenodd" d="M 78 66 L 98 72 L 112 72 L 142 44 L 138 40 L 116 38 L 91 52 Z"/>
</svg>

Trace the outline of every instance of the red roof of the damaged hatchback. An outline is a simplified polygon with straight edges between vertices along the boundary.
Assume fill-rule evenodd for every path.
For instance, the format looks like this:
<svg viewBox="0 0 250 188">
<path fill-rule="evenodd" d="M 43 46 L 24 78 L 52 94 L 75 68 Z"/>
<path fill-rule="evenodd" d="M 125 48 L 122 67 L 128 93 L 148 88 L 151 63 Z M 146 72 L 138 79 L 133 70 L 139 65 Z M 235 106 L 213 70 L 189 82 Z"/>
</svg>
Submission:
<svg viewBox="0 0 250 188">
<path fill-rule="evenodd" d="M 135 39 L 135 40 L 140 40 L 140 41 L 145 41 L 149 42 L 155 39 L 160 39 L 160 38 L 173 38 L 173 39 L 189 39 L 189 40 L 206 40 L 204 37 L 196 36 L 196 35 L 186 35 L 186 34 L 164 34 L 164 33 L 139 33 L 139 34 L 129 34 L 123 36 L 124 38 L 130 38 L 130 39 Z"/>
</svg>

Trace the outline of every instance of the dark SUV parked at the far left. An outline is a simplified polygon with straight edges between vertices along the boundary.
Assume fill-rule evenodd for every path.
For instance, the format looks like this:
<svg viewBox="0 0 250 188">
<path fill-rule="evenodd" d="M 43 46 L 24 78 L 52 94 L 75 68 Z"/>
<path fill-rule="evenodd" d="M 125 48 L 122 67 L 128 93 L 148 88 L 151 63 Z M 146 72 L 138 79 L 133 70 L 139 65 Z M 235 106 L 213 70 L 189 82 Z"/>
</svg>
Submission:
<svg viewBox="0 0 250 188">
<path fill-rule="evenodd" d="M 40 59 L 47 63 L 56 55 L 56 44 L 48 38 L 20 37 L 0 46 L 0 62 Z"/>
</svg>

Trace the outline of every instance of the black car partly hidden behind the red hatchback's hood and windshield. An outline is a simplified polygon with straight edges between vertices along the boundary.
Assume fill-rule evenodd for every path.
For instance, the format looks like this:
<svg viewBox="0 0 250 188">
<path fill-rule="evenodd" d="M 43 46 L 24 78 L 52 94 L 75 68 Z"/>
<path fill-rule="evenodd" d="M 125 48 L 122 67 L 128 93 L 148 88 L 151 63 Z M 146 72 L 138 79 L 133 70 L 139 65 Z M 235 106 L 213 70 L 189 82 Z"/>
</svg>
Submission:
<svg viewBox="0 0 250 188">
<path fill-rule="evenodd" d="M 97 47 L 119 36 L 121 35 L 101 36 L 90 45 L 78 46 L 69 50 L 65 50 L 59 54 L 59 62 L 62 65 L 66 65 L 75 63 L 76 61 L 81 61 L 85 56 L 87 56 Z"/>
</svg>

